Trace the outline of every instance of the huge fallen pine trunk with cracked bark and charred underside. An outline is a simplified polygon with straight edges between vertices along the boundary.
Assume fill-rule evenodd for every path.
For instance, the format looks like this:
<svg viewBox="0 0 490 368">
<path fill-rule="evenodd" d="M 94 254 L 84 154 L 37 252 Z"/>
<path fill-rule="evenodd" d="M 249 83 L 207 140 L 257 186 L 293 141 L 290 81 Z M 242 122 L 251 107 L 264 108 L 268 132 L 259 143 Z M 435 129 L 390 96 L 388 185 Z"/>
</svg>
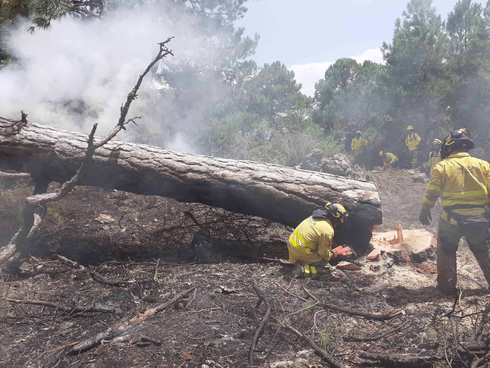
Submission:
<svg viewBox="0 0 490 368">
<path fill-rule="evenodd" d="M 2 165 L 31 174 L 36 183 L 73 176 L 86 142 L 87 134 L 0 118 Z M 100 147 L 79 184 L 203 203 L 292 227 L 325 202 L 340 202 L 351 216 L 336 240 L 362 247 L 370 228 L 381 223 L 379 195 L 367 181 L 134 142 L 111 140 Z"/>
</svg>

